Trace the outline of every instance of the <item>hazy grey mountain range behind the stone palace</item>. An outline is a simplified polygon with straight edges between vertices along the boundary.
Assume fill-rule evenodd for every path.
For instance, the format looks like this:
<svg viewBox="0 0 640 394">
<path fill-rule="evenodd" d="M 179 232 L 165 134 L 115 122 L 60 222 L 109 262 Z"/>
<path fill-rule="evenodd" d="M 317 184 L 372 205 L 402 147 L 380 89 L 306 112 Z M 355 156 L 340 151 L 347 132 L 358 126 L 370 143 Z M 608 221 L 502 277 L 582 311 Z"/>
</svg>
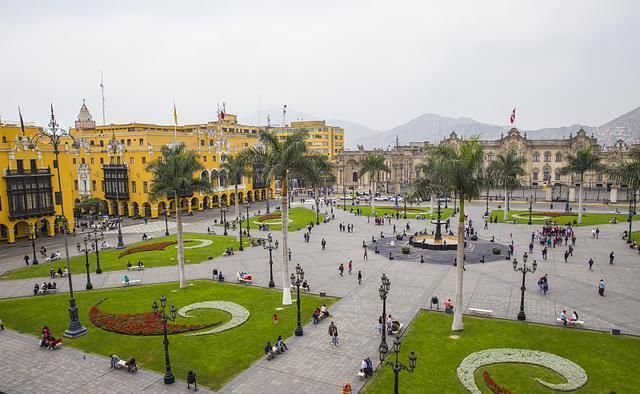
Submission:
<svg viewBox="0 0 640 394">
<path fill-rule="evenodd" d="M 402 125 L 386 131 L 371 129 L 367 126 L 342 119 L 327 120 L 327 124 L 345 129 L 345 147 L 355 149 L 358 145 L 365 148 L 385 148 L 395 145 L 396 136 L 401 144 L 415 141 L 437 142 L 447 138 L 451 131 L 459 136 L 480 135 L 482 139 L 499 139 L 511 126 L 500 126 L 478 122 L 468 117 L 452 118 L 425 113 Z M 627 143 L 640 143 L 640 107 L 623 114 L 600 126 L 573 124 L 538 130 L 520 130 L 531 139 L 568 138 L 583 128 L 587 135 L 593 135 L 604 145 L 613 145 L 618 139 Z"/>
</svg>

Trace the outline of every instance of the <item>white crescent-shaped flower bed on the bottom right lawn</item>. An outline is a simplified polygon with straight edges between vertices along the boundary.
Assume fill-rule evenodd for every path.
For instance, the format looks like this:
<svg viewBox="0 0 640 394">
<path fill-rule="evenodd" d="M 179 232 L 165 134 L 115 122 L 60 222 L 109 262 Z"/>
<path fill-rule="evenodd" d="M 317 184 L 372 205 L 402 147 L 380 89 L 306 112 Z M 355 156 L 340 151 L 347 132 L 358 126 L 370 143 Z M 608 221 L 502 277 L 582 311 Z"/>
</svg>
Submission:
<svg viewBox="0 0 640 394">
<path fill-rule="evenodd" d="M 464 387 L 473 394 L 481 394 L 473 375 L 478 368 L 500 363 L 540 365 L 562 375 L 567 383 L 553 384 L 536 378 L 541 385 L 557 391 L 574 391 L 587 383 L 582 367 L 555 354 L 526 349 L 487 349 L 471 353 L 458 365 L 457 374 Z M 507 387 L 509 388 L 509 387 Z"/>
</svg>

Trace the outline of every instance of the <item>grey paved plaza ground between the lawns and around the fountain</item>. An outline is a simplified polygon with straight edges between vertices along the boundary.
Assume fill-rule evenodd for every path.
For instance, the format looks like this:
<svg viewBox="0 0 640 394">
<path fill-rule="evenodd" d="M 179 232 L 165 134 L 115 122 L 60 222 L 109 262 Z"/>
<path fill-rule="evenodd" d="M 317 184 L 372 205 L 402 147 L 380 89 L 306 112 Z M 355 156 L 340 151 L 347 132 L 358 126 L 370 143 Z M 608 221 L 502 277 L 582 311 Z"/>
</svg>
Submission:
<svg viewBox="0 0 640 394">
<path fill-rule="evenodd" d="M 535 225 L 490 224 L 484 230 L 481 218 L 484 205 L 471 204 L 467 211 L 475 222 L 474 226 L 478 229 L 481 240 L 487 242 L 495 236 L 496 241 L 503 245 L 513 241 L 514 255 L 518 261 L 521 261 L 523 252 L 528 249 L 531 232 L 539 229 Z M 354 216 L 339 209 L 334 209 L 334 214 L 335 221 L 313 228 L 309 243 L 304 242 L 302 231 L 290 233 L 289 246 L 292 250 L 291 266 L 300 263 L 304 267 L 305 278 L 309 280 L 312 293 L 326 292 L 329 296 L 341 297 L 331 310 L 331 320 L 336 323 L 340 332 L 339 346 L 333 347 L 330 344 L 327 334 L 329 322 L 323 321 L 315 326 L 307 324 L 304 336 L 289 339 L 288 352 L 274 360 L 259 360 L 236 376 L 221 392 L 336 393 L 347 382 L 351 382 L 354 392 L 357 392 L 363 384 L 356 376 L 360 361 L 364 357 L 371 357 L 373 360 L 378 358 L 380 336 L 377 321 L 382 309 L 378 287 L 382 273 L 391 280 L 387 312 L 401 322 L 409 323 L 421 308 L 429 308 L 430 299 L 434 295 L 441 302 L 449 297 L 454 298 L 456 268 L 450 264 L 428 261 L 420 264 L 418 259 L 389 260 L 388 256 L 371 251 L 368 253 L 368 260 L 363 259 L 363 240 L 369 242 L 371 236 L 378 237 L 380 231 L 392 234 L 393 224 L 402 229 L 407 222 L 410 222 L 412 231 L 424 228 L 430 231 L 433 225 L 429 221 L 400 219 L 392 221 L 391 225 L 375 226 L 368 224 L 366 217 Z M 354 232 L 339 232 L 339 221 L 353 224 Z M 196 217 L 185 230 L 205 232 L 210 224 L 210 218 L 200 220 Z M 127 238 L 127 242 L 137 240 L 141 231 L 156 237 L 164 234 L 163 220 L 150 221 L 146 225 L 149 226 L 148 229 L 140 226 L 145 225 L 138 224 L 134 231 L 124 231 L 127 234 L 133 233 Z M 569 258 L 568 263 L 564 263 L 564 247 L 550 248 L 548 260 L 542 261 L 539 244 L 536 243 L 529 261 L 538 261 L 538 271 L 527 275 L 527 319 L 554 324 L 563 309 L 576 310 L 588 329 L 609 331 L 616 327 L 623 334 L 640 335 L 640 288 L 636 283 L 640 277 L 640 255 L 620 239 L 626 226 L 625 223 L 600 226 L 599 239 L 591 238 L 590 227 L 578 227 L 574 255 Z M 266 236 L 266 233 L 257 230 L 251 232 L 253 236 Z M 279 232 L 272 234 L 274 239 L 281 237 Z M 131 238 L 133 236 L 135 239 Z M 324 251 L 320 246 L 322 238 L 327 240 Z M 612 250 L 616 253 L 614 265 L 608 263 L 608 255 Z M 593 271 L 588 270 L 587 261 L 590 257 L 595 260 Z M 340 277 L 339 264 L 342 262 L 346 267 L 349 260 L 353 260 L 353 274 L 345 271 L 344 277 Z M 274 279 L 280 286 L 280 250 L 274 252 L 274 261 Z M 3 261 L 0 267 L 3 270 L 11 269 L 20 266 L 18 263 Z M 268 252 L 261 247 L 254 247 L 231 257 L 188 264 L 186 272 L 188 279 L 210 279 L 215 268 L 222 270 L 228 280 L 233 281 L 237 271 L 246 271 L 253 274 L 254 285 L 266 287 L 269 280 L 267 263 Z M 356 279 L 359 270 L 364 278 L 361 285 L 358 285 Z M 127 271 L 93 275 L 94 288 L 120 286 L 125 272 Z M 536 285 L 538 278 L 544 274 L 548 275 L 550 288 L 546 295 L 539 294 Z M 150 268 L 129 273 L 129 276 L 131 279 L 141 279 L 143 285 L 168 282 L 176 279 L 177 268 Z M 487 260 L 485 264 L 475 264 L 475 261 L 474 264 L 467 264 L 464 276 L 465 311 L 468 308 L 491 309 L 495 317 L 515 319 L 520 305 L 521 279 L 521 274 L 515 273 L 512 263 L 504 258 Z M 605 297 L 600 297 L 597 292 L 600 279 L 604 279 L 607 284 Z M 32 296 L 33 284 L 43 280 L 45 278 L 2 281 L 0 297 Z M 74 289 L 84 289 L 83 275 L 75 275 L 73 280 Z M 59 291 L 65 291 L 66 281 L 59 281 L 58 287 Z M 0 315 L 1 313 L 0 310 Z M 0 317 L 5 321 L 9 320 L 8 316 Z M 303 319 L 310 322 L 310 317 L 305 316 Z M 70 347 L 57 352 L 41 352 L 36 346 L 35 337 L 10 330 L 0 332 L 0 354 L 0 391 L 7 393 L 56 392 L 61 387 L 56 380 L 47 381 L 40 377 L 42 371 L 53 365 L 57 366 L 60 375 L 74 376 L 77 386 L 83 387 L 87 393 L 184 390 L 183 382 L 165 387 L 160 374 L 143 372 L 133 376 L 123 371 L 112 371 L 108 368 L 106 358 L 83 355 Z M 10 362 L 11 360 L 14 361 Z M 116 373 L 122 376 L 114 378 Z"/>
</svg>

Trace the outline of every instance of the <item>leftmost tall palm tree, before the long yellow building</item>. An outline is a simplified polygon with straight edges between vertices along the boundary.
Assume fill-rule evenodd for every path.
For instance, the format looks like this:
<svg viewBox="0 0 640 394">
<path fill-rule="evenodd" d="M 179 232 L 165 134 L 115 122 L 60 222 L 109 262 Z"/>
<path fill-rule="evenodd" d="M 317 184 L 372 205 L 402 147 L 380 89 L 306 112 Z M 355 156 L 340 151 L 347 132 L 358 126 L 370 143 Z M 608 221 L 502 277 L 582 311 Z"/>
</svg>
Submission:
<svg viewBox="0 0 640 394">
<path fill-rule="evenodd" d="M 160 152 L 162 157 L 147 165 L 147 171 L 153 177 L 149 195 L 152 201 L 160 198 L 175 201 L 178 232 L 178 278 L 180 288 L 185 288 L 187 282 L 184 274 L 184 243 L 179 198 L 193 195 L 196 191 L 210 193 L 211 183 L 208 179 L 200 176 L 194 177 L 194 174 L 200 174 L 204 167 L 198 161 L 196 153 L 192 150 L 186 150 L 184 144 L 165 145 Z"/>
</svg>

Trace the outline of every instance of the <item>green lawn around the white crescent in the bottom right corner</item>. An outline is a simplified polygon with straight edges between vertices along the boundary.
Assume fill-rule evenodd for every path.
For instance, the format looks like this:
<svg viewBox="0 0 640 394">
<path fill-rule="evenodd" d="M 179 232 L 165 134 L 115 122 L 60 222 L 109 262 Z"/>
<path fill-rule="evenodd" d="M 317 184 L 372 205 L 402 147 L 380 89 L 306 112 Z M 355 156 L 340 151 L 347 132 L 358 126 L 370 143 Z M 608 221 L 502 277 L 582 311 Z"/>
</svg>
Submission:
<svg viewBox="0 0 640 394">
<path fill-rule="evenodd" d="M 580 365 L 588 382 L 576 393 L 637 392 L 640 384 L 640 339 L 609 333 L 550 327 L 539 324 L 465 316 L 464 331 L 452 335 L 450 315 L 423 311 L 411 324 L 402 341 L 400 360 L 407 364 L 410 351 L 418 357 L 414 373 L 400 373 L 400 391 L 413 393 L 467 393 L 456 368 L 469 354 L 493 348 L 518 348 L 556 354 Z M 395 357 L 394 357 L 395 358 Z M 372 357 L 373 360 L 373 357 Z M 564 379 L 544 367 L 529 364 L 493 364 L 475 372 L 483 393 L 491 393 L 482 379 L 491 378 L 513 393 L 553 393 L 534 379 L 563 383 Z M 376 372 L 367 393 L 389 393 L 393 371 Z"/>
</svg>

